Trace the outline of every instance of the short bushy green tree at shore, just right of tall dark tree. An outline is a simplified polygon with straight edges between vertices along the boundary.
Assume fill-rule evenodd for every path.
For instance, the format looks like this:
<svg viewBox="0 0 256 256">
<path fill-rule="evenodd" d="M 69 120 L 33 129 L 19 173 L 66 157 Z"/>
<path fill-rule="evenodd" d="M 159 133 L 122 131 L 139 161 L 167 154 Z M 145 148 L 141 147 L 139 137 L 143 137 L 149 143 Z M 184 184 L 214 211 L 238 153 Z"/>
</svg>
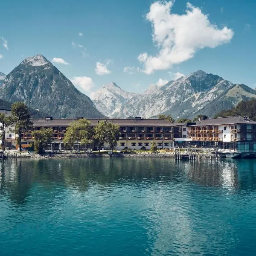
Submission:
<svg viewBox="0 0 256 256">
<path fill-rule="evenodd" d="M 35 152 L 41 154 L 44 152 L 44 148 L 47 146 L 47 144 L 51 142 L 52 128 L 43 128 L 38 131 L 33 131 L 32 135 L 34 136 Z"/>
</svg>

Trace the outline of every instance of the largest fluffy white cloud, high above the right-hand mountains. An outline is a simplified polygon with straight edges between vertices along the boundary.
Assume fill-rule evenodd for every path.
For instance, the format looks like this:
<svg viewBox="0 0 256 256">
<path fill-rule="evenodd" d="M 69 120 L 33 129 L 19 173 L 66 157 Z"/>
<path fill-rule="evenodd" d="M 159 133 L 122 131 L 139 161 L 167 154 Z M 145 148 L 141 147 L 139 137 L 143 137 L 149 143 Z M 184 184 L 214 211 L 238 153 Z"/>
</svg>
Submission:
<svg viewBox="0 0 256 256">
<path fill-rule="evenodd" d="M 233 38 L 232 29 L 224 26 L 219 29 L 211 24 L 208 15 L 201 9 L 187 3 L 186 14 L 172 13 L 174 1 L 157 1 L 152 3 L 146 19 L 153 28 L 153 41 L 158 47 L 157 55 L 144 52 L 138 60 L 144 64 L 146 74 L 155 70 L 166 70 L 173 64 L 189 60 L 199 49 L 215 48 L 227 44 Z"/>
</svg>

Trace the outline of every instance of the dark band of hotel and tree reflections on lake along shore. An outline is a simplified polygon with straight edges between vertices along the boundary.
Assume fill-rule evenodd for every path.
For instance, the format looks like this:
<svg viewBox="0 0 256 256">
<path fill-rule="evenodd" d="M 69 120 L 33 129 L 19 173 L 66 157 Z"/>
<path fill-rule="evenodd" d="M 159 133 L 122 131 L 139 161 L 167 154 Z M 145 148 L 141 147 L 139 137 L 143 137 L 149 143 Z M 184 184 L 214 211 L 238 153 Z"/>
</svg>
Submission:
<svg viewBox="0 0 256 256">
<path fill-rule="evenodd" d="M 45 189 L 56 184 L 79 191 L 90 186 L 106 189 L 119 184 L 162 186 L 186 180 L 201 186 L 227 190 L 256 185 L 255 160 L 175 161 L 161 158 L 47 159 L 0 162 L 0 195 L 23 204 L 29 189 L 39 183 Z"/>
</svg>

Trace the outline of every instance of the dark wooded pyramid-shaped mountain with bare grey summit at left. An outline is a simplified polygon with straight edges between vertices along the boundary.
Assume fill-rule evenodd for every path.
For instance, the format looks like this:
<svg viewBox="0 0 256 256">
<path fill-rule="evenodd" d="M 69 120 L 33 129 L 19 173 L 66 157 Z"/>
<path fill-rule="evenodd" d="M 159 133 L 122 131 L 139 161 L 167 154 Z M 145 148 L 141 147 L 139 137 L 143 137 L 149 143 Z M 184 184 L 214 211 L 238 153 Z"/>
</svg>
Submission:
<svg viewBox="0 0 256 256">
<path fill-rule="evenodd" d="M 23 101 L 29 108 L 55 118 L 104 117 L 90 98 L 41 54 L 26 58 L 5 77 L 0 99 Z"/>
</svg>

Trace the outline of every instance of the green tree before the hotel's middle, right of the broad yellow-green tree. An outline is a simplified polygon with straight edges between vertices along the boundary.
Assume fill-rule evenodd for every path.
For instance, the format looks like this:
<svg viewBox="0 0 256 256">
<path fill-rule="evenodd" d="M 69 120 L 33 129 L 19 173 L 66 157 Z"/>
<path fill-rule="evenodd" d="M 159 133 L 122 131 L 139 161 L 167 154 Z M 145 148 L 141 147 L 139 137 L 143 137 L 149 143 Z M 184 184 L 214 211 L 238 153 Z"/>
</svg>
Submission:
<svg viewBox="0 0 256 256">
<path fill-rule="evenodd" d="M 107 142 L 113 152 L 113 148 L 116 146 L 117 140 L 120 136 L 120 127 L 111 122 L 100 121 L 94 128 L 94 138 L 99 141 L 99 152 L 102 143 Z"/>
</svg>

